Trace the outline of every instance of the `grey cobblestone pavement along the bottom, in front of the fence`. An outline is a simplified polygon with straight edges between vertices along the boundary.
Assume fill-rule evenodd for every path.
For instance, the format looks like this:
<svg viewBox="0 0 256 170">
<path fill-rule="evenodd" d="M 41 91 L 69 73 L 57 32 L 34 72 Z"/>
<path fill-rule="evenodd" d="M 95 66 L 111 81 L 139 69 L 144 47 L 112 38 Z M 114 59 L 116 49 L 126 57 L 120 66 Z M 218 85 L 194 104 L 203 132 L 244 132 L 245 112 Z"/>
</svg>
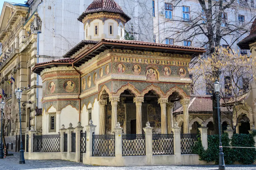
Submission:
<svg viewBox="0 0 256 170">
<path fill-rule="evenodd" d="M 26 160 L 19 164 L 19 153 L 0 160 L 1 170 L 39 169 L 39 170 L 215 170 L 216 165 L 182 165 L 182 166 L 144 166 L 144 167 L 102 167 L 84 165 L 64 160 Z M 226 165 L 227 170 L 256 170 L 256 165 Z"/>
</svg>

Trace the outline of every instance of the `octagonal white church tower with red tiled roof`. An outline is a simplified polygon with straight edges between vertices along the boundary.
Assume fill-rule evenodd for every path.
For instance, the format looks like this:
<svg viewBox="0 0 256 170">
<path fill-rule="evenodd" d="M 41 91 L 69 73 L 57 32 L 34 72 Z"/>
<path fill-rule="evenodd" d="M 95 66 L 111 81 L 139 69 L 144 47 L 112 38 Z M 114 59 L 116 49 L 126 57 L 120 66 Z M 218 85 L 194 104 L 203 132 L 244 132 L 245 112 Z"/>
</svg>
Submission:
<svg viewBox="0 0 256 170">
<path fill-rule="evenodd" d="M 79 16 L 84 39 L 124 39 L 125 23 L 131 20 L 114 0 L 94 0 Z"/>
</svg>

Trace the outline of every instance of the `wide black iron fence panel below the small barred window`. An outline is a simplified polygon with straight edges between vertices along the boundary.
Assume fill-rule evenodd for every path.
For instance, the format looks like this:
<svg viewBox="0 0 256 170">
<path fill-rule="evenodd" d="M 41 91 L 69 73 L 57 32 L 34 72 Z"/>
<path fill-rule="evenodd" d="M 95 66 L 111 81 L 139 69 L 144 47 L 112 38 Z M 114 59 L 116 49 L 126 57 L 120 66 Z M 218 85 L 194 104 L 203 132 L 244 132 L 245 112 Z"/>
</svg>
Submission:
<svg viewBox="0 0 256 170">
<path fill-rule="evenodd" d="M 60 152 L 60 134 L 35 135 L 33 152 Z"/>
</svg>

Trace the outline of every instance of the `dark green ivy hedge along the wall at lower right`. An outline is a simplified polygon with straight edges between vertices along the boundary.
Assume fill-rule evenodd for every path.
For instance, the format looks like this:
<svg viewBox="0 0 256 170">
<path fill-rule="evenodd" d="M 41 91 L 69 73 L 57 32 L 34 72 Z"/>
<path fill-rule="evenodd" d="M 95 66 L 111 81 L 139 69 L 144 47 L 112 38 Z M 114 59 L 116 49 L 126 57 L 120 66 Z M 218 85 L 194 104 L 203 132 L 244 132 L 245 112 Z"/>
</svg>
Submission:
<svg viewBox="0 0 256 170">
<path fill-rule="evenodd" d="M 228 138 L 228 134 L 222 135 L 222 146 L 240 146 L 240 147 L 254 147 L 255 141 L 252 134 L 234 134 L 232 139 Z M 192 147 L 193 153 L 198 154 L 200 160 L 207 162 L 219 161 L 219 136 L 208 135 L 208 148 L 204 150 L 200 137 L 195 145 Z M 231 141 L 231 145 L 229 142 Z M 223 148 L 225 164 L 233 164 L 235 161 L 241 164 L 252 164 L 256 160 L 255 148 Z"/>
</svg>

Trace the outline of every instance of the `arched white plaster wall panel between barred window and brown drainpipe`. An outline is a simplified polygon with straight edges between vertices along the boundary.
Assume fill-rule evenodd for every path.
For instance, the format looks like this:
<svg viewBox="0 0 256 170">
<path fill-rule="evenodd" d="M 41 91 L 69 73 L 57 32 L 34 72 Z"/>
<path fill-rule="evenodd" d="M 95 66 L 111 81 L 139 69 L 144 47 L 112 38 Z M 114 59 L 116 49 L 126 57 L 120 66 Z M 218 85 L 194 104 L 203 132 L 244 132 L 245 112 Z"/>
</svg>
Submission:
<svg viewBox="0 0 256 170">
<path fill-rule="evenodd" d="M 77 109 L 75 109 L 71 105 L 67 105 L 61 110 L 60 125 L 64 124 L 65 128 L 68 128 L 69 123 L 72 123 L 73 128 L 75 128 L 78 122 L 77 114 Z"/>
</svg>

